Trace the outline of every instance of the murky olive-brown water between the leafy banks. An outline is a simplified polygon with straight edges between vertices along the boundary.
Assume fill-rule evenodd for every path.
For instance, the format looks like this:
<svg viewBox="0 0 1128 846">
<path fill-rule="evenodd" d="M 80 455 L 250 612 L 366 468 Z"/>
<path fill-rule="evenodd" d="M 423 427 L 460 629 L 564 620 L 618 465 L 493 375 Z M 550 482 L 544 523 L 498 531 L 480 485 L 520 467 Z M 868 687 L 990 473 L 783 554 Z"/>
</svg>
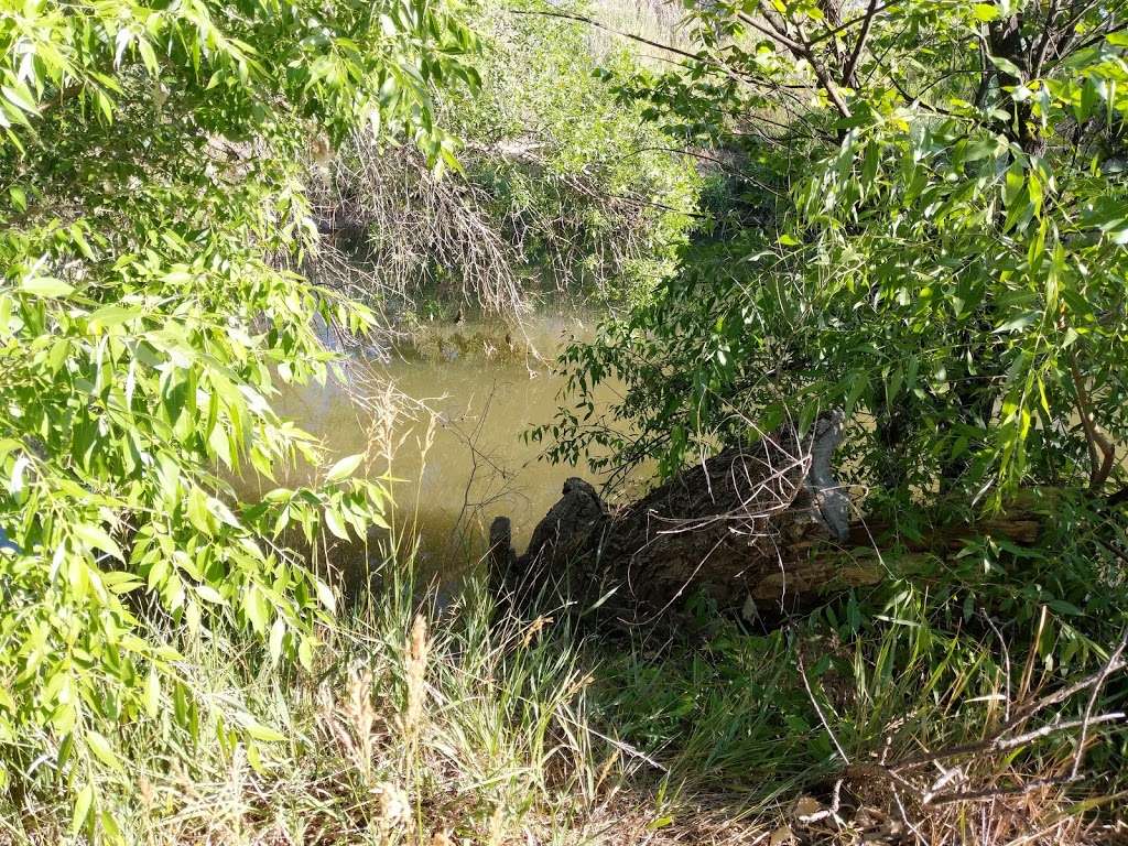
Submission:
<svg viewBox="0 0 1128 846">
<path fill-rule="evenodd" d="M 564 481 L 591 478 L 585 467 L 538 460 L 541 447 L 521 437 L 556 411 L 563 380 L 550 362 L 562 343 L 591 334 L 590 321 L 574 315 L 537 316 L 520 329 L 450 325 L 425 333 L 390 363 L 373 365 L 399 393 L 437 415 L 432 420 L 421 411 L 414 420 L 399 418 L 390 467 L 404 479 L 393 488 L 397 523 L 415 521 L 429 570 L 456 566 L 467 552 L 479 553 L 497 514 L 512 519 L 514 545 L 523 549 Z M 608 388 L 603 402 L 613 396 Z M 279 409 L 338 455 L 363 451 L 373 428 L 373 414 L 359 409 L 332 381 L 288 393 Z M 387 469 L 377 465 L 377 475 Z"/>
</svg>

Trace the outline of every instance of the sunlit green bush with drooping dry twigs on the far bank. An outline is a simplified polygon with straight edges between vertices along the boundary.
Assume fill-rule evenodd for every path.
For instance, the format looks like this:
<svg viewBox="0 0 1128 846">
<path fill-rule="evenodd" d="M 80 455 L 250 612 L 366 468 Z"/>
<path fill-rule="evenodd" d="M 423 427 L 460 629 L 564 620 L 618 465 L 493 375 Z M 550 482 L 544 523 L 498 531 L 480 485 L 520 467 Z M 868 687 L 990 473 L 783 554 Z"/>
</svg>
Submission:
<svg viewBox="0 0 1128 846">
<path fill-rule="evenodd" d="M 464 141 L 460 173 L 437 183 L 416 156 L 373 153 L 367 140 L 340 151 L 323 205 L 368 233 L 353 252 L 379 281 L 373 293 L 520 310 L 527 293 L 644 297 L 672 268 L 694 223 L 695 162 L 594 72 L 634 72 L 636 51 L 603 49 L 552 17 L 561 11 L 591 10 L 476 8 L 481 90 L 437 95 L 441 123 Z"/>
</svg>

